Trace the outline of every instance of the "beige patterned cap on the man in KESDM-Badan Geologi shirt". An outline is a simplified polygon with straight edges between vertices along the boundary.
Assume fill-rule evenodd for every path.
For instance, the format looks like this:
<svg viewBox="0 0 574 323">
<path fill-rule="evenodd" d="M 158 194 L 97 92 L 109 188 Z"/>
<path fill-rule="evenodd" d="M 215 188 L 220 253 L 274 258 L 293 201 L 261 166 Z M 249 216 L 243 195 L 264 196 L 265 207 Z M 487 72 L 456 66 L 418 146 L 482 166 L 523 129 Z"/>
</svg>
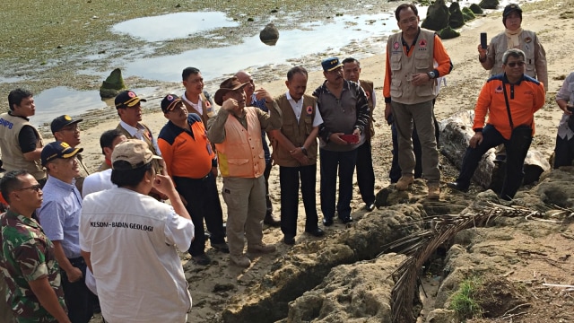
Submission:
<svg viewBox="0 0 574 323">
<path fill-rule="evenodd" d="M 135 170 L 154 159 L 161 159 L 152 153 L 148 145 L 139 139 L 127 139 L 117 144 L 111 153 L 111 164 L 114 170 Z"/>
</svg>

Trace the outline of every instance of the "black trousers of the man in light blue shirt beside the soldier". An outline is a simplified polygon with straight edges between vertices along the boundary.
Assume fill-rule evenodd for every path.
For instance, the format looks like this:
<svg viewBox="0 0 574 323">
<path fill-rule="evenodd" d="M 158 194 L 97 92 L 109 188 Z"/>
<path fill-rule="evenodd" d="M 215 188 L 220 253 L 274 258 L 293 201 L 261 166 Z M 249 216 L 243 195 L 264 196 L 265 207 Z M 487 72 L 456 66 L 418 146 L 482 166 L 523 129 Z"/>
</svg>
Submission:
<svg viewBox="0 0 574 323">
<path fill-rule="evenodd" d="M 65 306 L 68 307 L 68 318 L 72 323 L 88 323 L 93 315 L 93 304 L 96 295 L 85 284 L 86 263 L 82 257 L 68 258 L 72 266 L 82 270 L 82 279 L 70 283 L 68 275 L 60 270 L 62 287 L 64 288 Z"/>
</svg>

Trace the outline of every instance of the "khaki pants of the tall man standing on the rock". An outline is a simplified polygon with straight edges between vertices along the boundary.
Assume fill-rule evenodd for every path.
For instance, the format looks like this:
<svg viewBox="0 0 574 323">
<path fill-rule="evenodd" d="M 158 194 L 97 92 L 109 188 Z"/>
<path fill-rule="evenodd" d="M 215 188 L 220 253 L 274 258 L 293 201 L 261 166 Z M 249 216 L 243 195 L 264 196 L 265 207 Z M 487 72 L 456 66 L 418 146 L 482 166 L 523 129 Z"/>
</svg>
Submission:
<svg viewBox="0 0 574 323">
<path fill-rule="evenodd" d="M 434 134 L 432 100 L 416 104 L 391 102 L 398 139 L 398 164 L 403 174 L 412 175 L 416 161 L 413 153 L 413 122 L 422 148 L 422 176 L 428 183 L 440 181 L 439 151 Z"/>
</svg>

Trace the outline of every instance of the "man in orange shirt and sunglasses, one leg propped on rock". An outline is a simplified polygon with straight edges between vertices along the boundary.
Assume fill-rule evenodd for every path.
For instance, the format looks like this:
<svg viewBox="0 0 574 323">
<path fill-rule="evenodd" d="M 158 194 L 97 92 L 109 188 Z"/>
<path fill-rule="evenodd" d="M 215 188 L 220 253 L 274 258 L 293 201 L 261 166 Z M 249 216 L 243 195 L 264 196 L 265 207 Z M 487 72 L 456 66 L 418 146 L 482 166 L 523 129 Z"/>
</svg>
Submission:
<svg viewBox="0 0 574 323">
<path fill-rule="evenodd" d="M 502 56 L 504 74 L 492 76 L 483 86 L 474 108 L 474 135 L 463 165 L 449 188 L 467 191 L 481 157 L 492 147 L 504 144 L 507 167 L 500 198 L 511 200 L 524 177 L 522 165 L 532 143 L 535 112 L 544 105 L 544 85 L 524 73 L 525 53 L 509 49 Z M 489 118 L 484 125 L 486 115 Z"/>
</svg>

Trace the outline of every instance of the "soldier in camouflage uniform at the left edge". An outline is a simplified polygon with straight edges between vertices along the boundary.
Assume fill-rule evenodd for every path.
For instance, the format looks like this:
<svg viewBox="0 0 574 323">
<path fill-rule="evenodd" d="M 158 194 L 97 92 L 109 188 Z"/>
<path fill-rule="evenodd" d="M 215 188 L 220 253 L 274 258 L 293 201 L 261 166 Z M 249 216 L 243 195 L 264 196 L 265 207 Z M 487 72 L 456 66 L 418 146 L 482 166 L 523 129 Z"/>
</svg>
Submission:
<svg viewBox="0 0 574 323">
<path fill-rule="evenodd" d="M 32 213 L 42 204 L 38 181 L 25 170 L 4 175 L 0 189 L 10 208 L 2 215 L 0 269 L 17 322 L 70 322 L 54 245 Z"/>
</svg>

